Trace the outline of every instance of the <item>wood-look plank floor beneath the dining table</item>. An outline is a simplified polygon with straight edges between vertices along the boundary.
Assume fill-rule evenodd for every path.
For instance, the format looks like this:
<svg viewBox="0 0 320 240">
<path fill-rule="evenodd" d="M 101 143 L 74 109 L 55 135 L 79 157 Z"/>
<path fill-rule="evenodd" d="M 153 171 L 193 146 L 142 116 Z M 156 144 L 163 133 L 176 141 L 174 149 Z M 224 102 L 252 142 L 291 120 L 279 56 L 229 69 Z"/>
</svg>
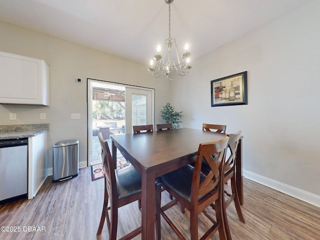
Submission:
<svg viewBox="0 0 320 240">
<path fill-rule="evenodd" d="M 227 209 L 233 240 L 320 240 L 320 208 L 245 178 L 243 183 L 242 212 L 246 223 L 238 220 L 233 203 Z M 162 192 L 162 203 L 168 200 L 167 192 Z M 17 230 L 0 231 L 0 239 L 108 239 L 106 224 L 102 234 L 96 237 L 102 202 L 103 179 L 91 181 L 90 167 L 80 169 L 79 176 L 63 182 L 52 183 L 52 176 L 49 176 L 33 199 L 0 205 L 0 226 L 15 226 Z M 183 215 L 178 205 L 168 211 L 189 239 L 189 212 L 185 210 Z M 208 211 L 214 215 L 213 210 Z M 209 222 L 203 215 L 199 219 L 202 232 Z M 121 207 L 117 237 L 137 227 L 139 221 L 137 202 Z M 163 219 L 161 238 L 177 239 Z M 218 239 L 218 234 L 212 239 Z"/>
</svg>

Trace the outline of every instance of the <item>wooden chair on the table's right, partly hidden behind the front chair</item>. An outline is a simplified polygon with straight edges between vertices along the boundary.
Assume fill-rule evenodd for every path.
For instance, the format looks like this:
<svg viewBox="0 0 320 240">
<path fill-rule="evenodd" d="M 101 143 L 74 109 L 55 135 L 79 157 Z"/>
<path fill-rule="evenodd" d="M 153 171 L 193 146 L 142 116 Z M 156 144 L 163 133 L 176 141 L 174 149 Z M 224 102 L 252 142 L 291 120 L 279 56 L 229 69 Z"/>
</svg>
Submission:
<svg viewBox="0 0 320 240">
<path fill-rule="evenodd" d="M 241 211 L 241 207 L 240 207 L 240 201 L 237 194 L 236 182 L 235 182 L 235 157 L 236 157 L 236 150 L 237 150 L 240 134 L 241 134 L 241 131 L 238 131 L 233 134 L 227 134 L 227 136 L 229 137 L 229 140 L 228 140 L 226 157 L 225 157 L 224 166 L 223 166 L 223 185 L 228 180 L 230 180 L 231 192 L 224 190 L 224 194 L 222 195 L 222 200 L 224 201 L 223 205 L 225 209 L 233 201 L 240 221 L 245 223 L 245 220 Z M 227 199 L 224 199 L 225 196 L 227 196 Z M 214 208 L 215 207 L 214 203 L 212 203 L 211 206 Z M 224 216 L 223 220 L 224 220 L 224 227 L 226 229 L 227 239 L 231 239 L 231 235 L 228 235 L 230 234 L 230 230 L 229 230 L 229 224 L 228 224 L 226 215 Z"/>
</svg>

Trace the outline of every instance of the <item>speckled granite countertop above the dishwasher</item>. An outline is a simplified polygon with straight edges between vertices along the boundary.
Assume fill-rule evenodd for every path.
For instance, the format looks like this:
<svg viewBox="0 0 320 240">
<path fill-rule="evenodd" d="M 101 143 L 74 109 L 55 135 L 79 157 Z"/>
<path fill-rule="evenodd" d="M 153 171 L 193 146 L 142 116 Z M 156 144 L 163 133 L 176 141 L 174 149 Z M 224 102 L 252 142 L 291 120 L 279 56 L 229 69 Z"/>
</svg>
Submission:
<svg viewBox="0 0 320 240">
<path fill-rule="evenodd" d="M 0 125 L 0 139 L 32 137 L 49 130 L 49 124 Z"/>
</svg>

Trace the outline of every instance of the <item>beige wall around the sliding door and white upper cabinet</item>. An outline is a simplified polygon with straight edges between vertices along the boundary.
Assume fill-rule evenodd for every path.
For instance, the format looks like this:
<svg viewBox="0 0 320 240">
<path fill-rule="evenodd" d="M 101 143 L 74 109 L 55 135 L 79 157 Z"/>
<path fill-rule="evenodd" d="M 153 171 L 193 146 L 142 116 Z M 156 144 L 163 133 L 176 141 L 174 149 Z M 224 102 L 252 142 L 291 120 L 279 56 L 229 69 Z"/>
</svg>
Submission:
<svg viewBox="0 0 320 240">
<path fill-rule="evenodd" d="M 50 67 L 50 106 L 0 104 L 0 125 L 49 123 L 48 167 L 52 145 L 59 140 L 79 139 L 79 161 L 87 160 L 86 78 L 155 88 L 155 122 L 161 122 L 159 111 L 169 101 L 169 84 L 153 79 L 147 65 L 4 22 L 0 32 L 0 51 L 44 59 Z M 5 80 L 0 78 L 1 86 Z M 9 120 L 9 112 L 17 113 L 17 120 Z M 40 120 L 40 112 L 46 113 L 45 120 Z M 81 119 L 71 120 L 71 113 L 80 113 Z"/>
</svg>

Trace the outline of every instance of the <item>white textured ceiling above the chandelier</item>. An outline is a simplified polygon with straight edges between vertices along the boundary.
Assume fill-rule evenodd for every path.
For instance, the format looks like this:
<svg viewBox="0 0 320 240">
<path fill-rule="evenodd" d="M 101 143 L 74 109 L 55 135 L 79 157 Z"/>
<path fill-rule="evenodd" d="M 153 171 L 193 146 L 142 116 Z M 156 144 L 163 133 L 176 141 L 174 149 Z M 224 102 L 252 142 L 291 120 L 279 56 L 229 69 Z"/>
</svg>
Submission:
<svg viewBox="0 0 320 240">
<path fill-rule="evenodd" d="M 175 0 L 171 37 L 190 59 L 307 0 Z M 0 0 L 0 21 L 148 64 L 168 37 L 164 0 Z"/>
</svg>

